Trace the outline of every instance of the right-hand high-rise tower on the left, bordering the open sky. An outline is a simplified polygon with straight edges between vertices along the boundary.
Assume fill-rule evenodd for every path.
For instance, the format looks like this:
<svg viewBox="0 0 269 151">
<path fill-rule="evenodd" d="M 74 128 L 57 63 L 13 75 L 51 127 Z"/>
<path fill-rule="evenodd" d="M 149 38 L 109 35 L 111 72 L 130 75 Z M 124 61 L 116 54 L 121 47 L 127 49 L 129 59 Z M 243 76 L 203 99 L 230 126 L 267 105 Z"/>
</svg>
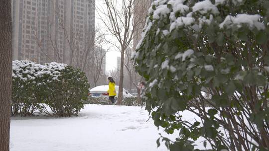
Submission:
<svg viewBox="0 0 269 151">
<path fill-rule="evenodd" d="M 67 29 L 70 29 L 69 40 L 73 45 L 69 47 L 71 49 L 69 56 L 73 65 L 77 64 L 77 67 L 81 67 L 87 59 L 85 52 L 94 47 L 95 0 L 71 0 L 69 2 L 67 11 L 71 14 L 66 21 L 70 22 Z"/>
</svg>

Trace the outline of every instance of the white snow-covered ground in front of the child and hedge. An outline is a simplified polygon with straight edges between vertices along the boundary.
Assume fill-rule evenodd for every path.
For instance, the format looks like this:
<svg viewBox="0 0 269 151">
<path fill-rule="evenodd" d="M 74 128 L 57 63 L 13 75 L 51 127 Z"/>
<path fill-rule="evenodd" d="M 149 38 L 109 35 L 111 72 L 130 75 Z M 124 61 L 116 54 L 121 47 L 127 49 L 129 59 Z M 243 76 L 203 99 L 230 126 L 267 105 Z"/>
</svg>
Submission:
<svg viewBox="0 0 269 151">
<path fill-rule="evenodd" d="M 158 133 L 178 133 L 158 131 L 148 117 L 141 107 L 93 104 L 78 117 L 12 117 L 10 151 L 167 151 Z"/>
</svg>

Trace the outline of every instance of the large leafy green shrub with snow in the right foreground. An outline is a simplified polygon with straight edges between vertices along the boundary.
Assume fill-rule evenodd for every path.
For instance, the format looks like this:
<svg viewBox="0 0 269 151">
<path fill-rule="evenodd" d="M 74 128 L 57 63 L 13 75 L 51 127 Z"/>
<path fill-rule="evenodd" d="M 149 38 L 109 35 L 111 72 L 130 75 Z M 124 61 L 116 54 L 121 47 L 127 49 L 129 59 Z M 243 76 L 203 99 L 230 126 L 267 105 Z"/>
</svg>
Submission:
<svg viewBox="0 0 269 151">
<path fill-rule="evenodd" d="M 268 0 L 155 0 L 133 57 L 171 151 L 269 151 Z"/>
</svg>

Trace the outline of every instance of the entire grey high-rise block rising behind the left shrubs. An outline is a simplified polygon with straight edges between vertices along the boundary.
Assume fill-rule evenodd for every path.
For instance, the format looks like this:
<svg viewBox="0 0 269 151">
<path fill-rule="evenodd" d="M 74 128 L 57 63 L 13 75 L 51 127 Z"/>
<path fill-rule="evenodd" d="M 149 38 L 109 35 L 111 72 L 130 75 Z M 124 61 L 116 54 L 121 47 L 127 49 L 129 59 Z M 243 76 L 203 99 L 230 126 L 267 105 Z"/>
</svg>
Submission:
<svg viewBox="0 0 269 151">
<path fill-rule="evenodd" d="M 82 67 L 94 41 L 95 0 L 11 0 L 12 59 Z"/>
</svg>

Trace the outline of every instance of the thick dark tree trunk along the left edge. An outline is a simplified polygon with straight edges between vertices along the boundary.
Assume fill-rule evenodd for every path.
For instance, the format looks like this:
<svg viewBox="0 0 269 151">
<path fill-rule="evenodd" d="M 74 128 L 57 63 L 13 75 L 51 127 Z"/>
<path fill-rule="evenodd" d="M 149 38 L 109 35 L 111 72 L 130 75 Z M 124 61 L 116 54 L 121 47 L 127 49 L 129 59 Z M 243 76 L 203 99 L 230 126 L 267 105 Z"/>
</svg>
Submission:
<svg viewBox="0 0 269 151">
<path fill-rule="evenodd" d="M 0 150 L 9 151 L 12 85 L 11 3 L 0 0 Z"/>
</svg>

